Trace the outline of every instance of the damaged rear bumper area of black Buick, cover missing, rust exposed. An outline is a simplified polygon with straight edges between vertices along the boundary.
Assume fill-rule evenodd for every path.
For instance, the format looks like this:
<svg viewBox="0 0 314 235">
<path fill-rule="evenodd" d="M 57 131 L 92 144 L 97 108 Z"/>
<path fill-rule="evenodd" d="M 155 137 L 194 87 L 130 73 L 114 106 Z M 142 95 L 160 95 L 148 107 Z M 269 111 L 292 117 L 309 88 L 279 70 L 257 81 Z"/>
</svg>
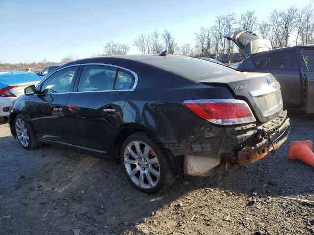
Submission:
<svg viewBox="0 0 314 235">
<path fill-rule="evenodd" d="M 184 155 L 185 174 L 209 176 L 264 158 L 287 140 L 289 132 L 290 121 L 283 110 L 277 118 L 262 125 L 204 124 L 182 143 L 165 147 L 174 155 Z"/>
</svg>

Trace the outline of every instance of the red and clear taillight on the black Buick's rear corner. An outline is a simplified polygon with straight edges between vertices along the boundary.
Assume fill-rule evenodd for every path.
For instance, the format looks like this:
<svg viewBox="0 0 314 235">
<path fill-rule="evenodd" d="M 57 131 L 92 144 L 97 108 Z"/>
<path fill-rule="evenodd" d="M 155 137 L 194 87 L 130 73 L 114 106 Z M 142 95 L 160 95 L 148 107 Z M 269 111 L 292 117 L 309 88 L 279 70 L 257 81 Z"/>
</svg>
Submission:
<svg viewBox="0 0 314 235">
<path fill-rule="evenodd" d="M 235 125 L 256 121 L 250 107 L 243 100 L 187 100 L 184 105 L 201 118 L 215 124 Z"/>
</svg>

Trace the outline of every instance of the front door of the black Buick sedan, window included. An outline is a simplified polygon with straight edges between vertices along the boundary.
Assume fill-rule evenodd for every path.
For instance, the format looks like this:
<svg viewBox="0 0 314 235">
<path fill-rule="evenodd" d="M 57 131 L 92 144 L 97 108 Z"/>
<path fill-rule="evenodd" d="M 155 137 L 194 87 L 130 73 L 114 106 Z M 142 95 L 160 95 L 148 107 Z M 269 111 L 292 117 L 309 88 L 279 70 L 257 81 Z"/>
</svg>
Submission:
<svg viewBox="0 0 314 235">
<path fill-rule="evenodd" d="M 46 141 L 69 142 L 65 133 L 69 126 L 65 122 L 64 107 L 73 90 L 79 65 L 62 68 L 47 77 L 31 96 L 27 113 L 35 135 Z"/>
</svg>

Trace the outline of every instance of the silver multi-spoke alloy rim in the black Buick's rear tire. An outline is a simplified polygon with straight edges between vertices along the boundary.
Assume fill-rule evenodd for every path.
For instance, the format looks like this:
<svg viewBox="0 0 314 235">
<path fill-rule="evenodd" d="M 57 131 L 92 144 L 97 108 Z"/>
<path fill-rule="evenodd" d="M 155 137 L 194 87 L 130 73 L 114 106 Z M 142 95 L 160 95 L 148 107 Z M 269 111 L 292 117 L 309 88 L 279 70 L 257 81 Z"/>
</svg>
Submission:
<svg viewBox="0 0 314 235">
<path fill-rule="evenodd" d="M 152 148 L 142 141 L 130 142 L 123 154 L 130 179 L 139 187 L 154 188 L 160 179 L 160 165 Z"/>
</svg>

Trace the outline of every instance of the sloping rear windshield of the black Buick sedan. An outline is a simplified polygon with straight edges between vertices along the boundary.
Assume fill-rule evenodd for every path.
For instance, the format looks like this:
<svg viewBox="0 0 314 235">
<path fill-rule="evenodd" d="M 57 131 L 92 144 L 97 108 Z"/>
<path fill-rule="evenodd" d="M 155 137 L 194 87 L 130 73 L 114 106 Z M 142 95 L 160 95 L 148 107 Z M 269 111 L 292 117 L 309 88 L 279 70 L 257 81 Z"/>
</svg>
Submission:
<svg viewBox="0 0 314 235">
<path fill-rule="evenodd" d="M 194 81 L 240 73 L 224 65 L 185 56 L 160 56 L 160 58 L 144 60 L 143 62 Z"/>
</svg>

